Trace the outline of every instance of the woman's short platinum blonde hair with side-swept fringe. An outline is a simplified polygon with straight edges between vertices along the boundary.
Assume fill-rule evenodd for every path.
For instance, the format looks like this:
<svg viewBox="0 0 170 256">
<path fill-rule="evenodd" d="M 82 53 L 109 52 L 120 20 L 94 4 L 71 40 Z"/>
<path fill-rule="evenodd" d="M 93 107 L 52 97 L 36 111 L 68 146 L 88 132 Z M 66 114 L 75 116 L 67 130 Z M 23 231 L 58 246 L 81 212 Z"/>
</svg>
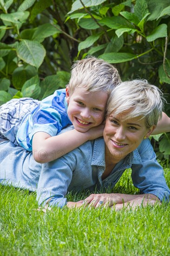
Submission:
<svg viewBox="0 0 170 256">
<path fill-rule="evenodd" d="M 131 109 L 130 116 L 145 118 L 145 125 L 150 128 L 162 118 L 163 93 L 146 80 L 125 81 L 117 85 L 107 102 L 107 116 L 123 113 Z M 127 117 L 128 118 L 128 117 Z"/>
</svg>

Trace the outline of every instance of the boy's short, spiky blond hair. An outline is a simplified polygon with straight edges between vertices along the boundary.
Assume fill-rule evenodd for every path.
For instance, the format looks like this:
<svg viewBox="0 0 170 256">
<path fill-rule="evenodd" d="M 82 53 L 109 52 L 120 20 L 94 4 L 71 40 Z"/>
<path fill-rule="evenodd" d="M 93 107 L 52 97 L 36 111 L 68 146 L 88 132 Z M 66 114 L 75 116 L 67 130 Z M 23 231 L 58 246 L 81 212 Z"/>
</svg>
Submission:
<svg viewBox="0 0 170 256">
<path fill-rule="evenodd" d="M 113 88 L 121 82 L 118 70 L 104 60 L 93 56 L 76 61 L 72 65 L 69 90 L 72 94 L 76 87 L 87 91 L 106 91 L 111 94 Z"/>
</svg>

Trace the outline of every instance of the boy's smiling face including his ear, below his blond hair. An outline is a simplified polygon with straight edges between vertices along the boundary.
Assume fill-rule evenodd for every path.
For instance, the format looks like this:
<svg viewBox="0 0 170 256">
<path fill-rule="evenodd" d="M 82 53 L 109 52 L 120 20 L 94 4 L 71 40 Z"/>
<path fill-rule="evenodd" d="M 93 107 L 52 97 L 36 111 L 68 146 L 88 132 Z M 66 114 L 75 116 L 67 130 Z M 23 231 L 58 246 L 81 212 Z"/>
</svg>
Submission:
<svg viewBox="0 0 170 256">
<path fill-rule="evenodd" d="M 67 114 L 74 128 L 79 132 L 86 132 L 90 128 L 102 123 L 108 94 L 104 91 L 89 92 L 84 88 L 75 88 L 69 94 L 66 88 Z"/>
</svg>

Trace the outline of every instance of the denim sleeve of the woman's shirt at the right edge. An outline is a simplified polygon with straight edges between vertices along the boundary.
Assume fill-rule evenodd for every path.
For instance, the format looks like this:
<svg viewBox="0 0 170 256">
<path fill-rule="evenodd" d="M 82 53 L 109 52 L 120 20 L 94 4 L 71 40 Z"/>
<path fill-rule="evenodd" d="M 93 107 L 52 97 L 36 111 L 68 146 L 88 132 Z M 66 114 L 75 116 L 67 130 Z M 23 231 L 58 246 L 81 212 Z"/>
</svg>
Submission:
<svg viewBox="0 0 170 256">
<path fill-rule="evenodd" d="M 170 189 L 168 188 L 163 168 L 156 160 L 156 154 L 150 144 L 150 140 L 144 140 L 138 148 L 141 162 L 132 164 L 132 181 L 141 194 L 156 195 L 159 200 L 170 200 Z"/>
</svg>

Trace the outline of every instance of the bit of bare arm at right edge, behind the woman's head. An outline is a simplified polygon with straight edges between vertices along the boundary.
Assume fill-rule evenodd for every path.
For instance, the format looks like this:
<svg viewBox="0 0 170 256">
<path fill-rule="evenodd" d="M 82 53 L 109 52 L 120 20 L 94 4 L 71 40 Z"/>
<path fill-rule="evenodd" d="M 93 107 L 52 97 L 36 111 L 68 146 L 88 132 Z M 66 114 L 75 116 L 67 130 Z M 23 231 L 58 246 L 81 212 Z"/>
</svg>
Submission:
<svg viewBox="0 0 170 256">
<path fill-rule="evenodd" d="M 162 119 L 157 122 L 157 127 L 155 128 L 151 135 L 157 135 L 160 133 L 168 132 L 170 132 L 170 117 L 168 117 L 168 115 L 166 115 L 163 112 Z"/>
</svg>

